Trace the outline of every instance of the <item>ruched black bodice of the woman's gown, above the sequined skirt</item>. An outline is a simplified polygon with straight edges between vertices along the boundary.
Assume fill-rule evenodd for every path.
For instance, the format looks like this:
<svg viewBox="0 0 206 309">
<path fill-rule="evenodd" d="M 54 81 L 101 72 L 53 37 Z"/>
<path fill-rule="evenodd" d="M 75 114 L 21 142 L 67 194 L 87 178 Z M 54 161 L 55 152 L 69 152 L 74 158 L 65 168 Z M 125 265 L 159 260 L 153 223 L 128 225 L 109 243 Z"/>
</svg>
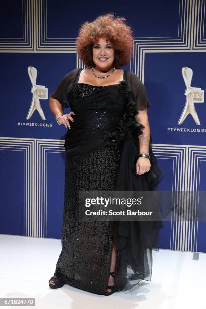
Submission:
<svg viewBox="0 0 206 309">
<path fill-rule="evenodd" d="M 123 118 L 128 98 L 121 82 L 108 86 L 75 83 L 68 95 L 75 113 L 71 129 L 65 136 L 67 152 L 76 155 L 89 153 L 106 143 L 106 130 L 113 130 Z M 78 145 L 82 144 L 81 150 Z"/>
</svg>

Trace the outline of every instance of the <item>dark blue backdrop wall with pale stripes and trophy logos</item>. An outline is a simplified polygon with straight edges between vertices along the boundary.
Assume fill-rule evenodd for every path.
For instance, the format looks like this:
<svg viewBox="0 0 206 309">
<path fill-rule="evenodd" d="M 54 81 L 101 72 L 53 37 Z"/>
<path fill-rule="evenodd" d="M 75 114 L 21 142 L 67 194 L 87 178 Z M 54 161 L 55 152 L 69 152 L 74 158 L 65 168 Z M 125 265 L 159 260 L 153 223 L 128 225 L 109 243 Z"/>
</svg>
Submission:
<svg viewBox="0 0 206 309">
<path fill-rule="evenodd" d="M 84 68 L 79 27 L 104 13 L 126 17 L 134 29 L 124 68 L 138 75 L 151 102 L 152 149 L 164 173 L 159 189 L 206 190 L 205 7 L 205 0 L 2 2 L 0 233 L 61 238 L 67 129 L 49 96 L 66 73 Z M 182 202 L 192 216 L 164 222 L 160 247 L 206 252 L 206 224 L 197 218 L 205 205 Z"/>
</svg>

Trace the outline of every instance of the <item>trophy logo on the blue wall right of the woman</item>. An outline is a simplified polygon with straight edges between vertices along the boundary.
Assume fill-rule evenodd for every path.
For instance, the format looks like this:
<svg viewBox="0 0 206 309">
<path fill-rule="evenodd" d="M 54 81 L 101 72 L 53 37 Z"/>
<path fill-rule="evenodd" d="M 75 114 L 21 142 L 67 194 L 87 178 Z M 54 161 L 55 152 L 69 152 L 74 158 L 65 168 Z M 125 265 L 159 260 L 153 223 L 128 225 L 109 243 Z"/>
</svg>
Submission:
<svg viewBox="0 0 206 309">
<path fill-rule="evenodd" d="M 191 114 L 195 123 L 200 125 L 200 121 L 194 106 L 194 103 L 204 103 L 204 90 L 201 88 L 191 87 L 193 71 L 190 68 L 183 67 L 182 68 L 182 76 L 184 78 L 184 82 L 186 85 L 185 95 L 186 102 L 178 124 L 182 124 L 187 117 L 188 114 Z"/>
</svg>

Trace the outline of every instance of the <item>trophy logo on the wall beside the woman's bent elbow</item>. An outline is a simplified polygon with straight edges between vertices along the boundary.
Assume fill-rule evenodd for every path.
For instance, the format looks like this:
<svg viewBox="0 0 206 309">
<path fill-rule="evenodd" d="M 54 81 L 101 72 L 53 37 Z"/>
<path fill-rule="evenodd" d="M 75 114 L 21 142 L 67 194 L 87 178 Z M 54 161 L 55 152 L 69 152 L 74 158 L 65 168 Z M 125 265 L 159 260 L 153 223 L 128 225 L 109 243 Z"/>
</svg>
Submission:
<svg viewBox="0 0 206 309">
<path fill-rule="evenodd" d="M 34 111 L 37 110 L 41 116 L 41 119 L 45 120 L 46 118 L 44 116 L 39 99 L 41 100 L 48 99 L 48 88 L 45 88 L 45 86 L 36 85 L 36 78 L 37 78 L 36 68 L 28 67 L 28 73 L 32 84 L 31 93 L 33 93 L 33 97 L 26 119 L 30 119 Z"/>
</svg>

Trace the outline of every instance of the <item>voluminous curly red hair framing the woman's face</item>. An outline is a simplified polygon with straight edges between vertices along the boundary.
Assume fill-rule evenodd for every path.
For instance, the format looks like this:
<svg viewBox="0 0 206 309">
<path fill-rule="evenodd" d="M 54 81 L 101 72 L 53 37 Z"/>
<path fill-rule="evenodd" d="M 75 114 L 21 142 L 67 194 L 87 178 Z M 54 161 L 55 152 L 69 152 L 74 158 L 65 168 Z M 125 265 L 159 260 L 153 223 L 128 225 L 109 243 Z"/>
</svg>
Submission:
<svg viewBox="0 0 206 309">
<path fill-rule="evenodd" d="M 82 24 L 77 37 L 77 53 L 85 65 L 90 68 L 95 66 L 92 48 L 100 37 L 107 38 L 113 44 L 114 67 L 124 66 L 130 61 L 133 30 L 125 21 L 125 17 L 115 17 L 114 13 L 108 13 Z"/>
</svg>

